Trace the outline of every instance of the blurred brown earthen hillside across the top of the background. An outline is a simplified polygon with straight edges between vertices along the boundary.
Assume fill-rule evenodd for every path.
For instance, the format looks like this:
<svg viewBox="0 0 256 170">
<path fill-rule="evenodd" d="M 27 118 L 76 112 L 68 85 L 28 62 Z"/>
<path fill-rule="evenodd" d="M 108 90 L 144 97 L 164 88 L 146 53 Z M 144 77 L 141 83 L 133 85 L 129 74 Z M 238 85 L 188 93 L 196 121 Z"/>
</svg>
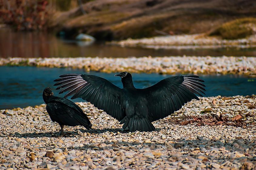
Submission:
<svg viewBox="0 0 256 170">
<path fill-rule="evenodd" d="M 120 40 L 169 34 L 209 32 L 237 18 L 256 17 L 254 0 L 95 0 L 56 13 L 50 27 L 68 37 L 78 33 L 97 39 Z"/>
</svg>

